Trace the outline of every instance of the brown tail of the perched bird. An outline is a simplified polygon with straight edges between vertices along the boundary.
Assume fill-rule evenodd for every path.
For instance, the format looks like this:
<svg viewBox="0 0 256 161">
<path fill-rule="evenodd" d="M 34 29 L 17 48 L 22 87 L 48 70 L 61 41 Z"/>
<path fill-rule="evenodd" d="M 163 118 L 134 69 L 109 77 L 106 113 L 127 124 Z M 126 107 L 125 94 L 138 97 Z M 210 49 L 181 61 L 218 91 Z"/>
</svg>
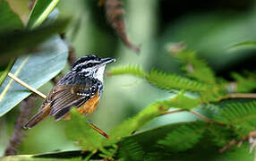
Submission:
<svg viewBox="0 0 256 161">
<path fill-rule="evenodd" d="M 39 122 L 41 122 L 47 115 L 50 114 L 50 106 L 44 107 L 42 110 L 38 111 L 38 114 L 35 114 L 28 123 L 26 123 L 23 128 L 30 129 Z"/>
</svg>

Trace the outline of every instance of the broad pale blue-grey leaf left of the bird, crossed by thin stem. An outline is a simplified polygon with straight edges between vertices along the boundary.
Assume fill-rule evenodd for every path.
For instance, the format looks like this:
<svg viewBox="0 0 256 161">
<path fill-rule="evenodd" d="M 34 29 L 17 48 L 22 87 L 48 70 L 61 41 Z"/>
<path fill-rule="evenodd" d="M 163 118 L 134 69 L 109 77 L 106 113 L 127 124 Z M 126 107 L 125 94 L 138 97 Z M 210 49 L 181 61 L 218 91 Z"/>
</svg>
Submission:
<svg viewBox="0 0 256 161">
<path fill-rule="evenodd" d="M 64 68 L 67 55 L 68 48 L 64 41 L 55 36 L 38 47 L 33 55 L 17 59 L 11 72 L 31 87 L 38 89 Z M 0 116 L 10 111 L 30 93 L 17 82 L 6 78 L 0 87 Z"/>
</svg>

